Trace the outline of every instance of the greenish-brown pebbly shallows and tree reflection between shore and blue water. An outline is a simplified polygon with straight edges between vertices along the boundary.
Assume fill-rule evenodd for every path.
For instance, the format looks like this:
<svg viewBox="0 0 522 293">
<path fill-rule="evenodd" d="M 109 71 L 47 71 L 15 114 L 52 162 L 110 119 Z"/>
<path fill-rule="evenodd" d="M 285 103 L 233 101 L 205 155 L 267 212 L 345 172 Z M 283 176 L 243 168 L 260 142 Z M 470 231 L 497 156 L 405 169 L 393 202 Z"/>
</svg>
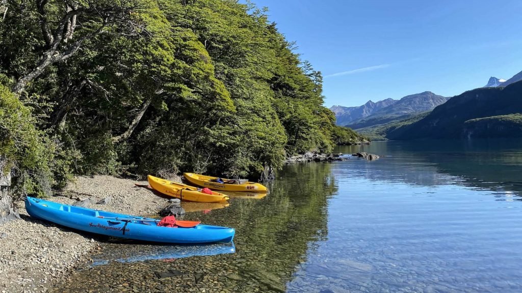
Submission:
<svg viewBox="0 0 522 293">
<path fill-rule="evenodd" d="M 185 219 L 234 227 L 235 253 L 194 256 L 173 262 L 154 259 L 137 263 L 109 262 L 75 272 L 56 291 L 82 291 L 84 284 L 94 291 L 111 291 L 118 290 L 117 284 L 124 283 L 149 292 L 284 292 L 314 243 L 327 238 L 328 200 L 338 190 L 331 166 L 315 163 L 287 166 L 271 184 L 270 193 L 261 199 L 232 196 L 226 208 L 211 213 L 187 213 Z M 121 249 L 105 246 L 104 252 L 113 254 Z M 185 276 L 204 274 L 205 277 L 198 283 L 188 277 L 172 277 L 165 282 L 150 273 L 169 270 L 183 271 Z M 108 271 L 113 274 L 111 280 L 97 277 Z"/>
</svg>

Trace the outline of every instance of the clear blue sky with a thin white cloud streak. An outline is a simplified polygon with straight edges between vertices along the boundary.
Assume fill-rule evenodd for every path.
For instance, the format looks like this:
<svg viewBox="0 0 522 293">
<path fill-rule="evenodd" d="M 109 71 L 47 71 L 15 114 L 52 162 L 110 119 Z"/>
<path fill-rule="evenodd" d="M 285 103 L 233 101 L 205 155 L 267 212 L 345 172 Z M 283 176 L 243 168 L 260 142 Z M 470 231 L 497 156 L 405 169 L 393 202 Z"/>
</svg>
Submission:
<svg viewBox="0 0 522 293">
<path fill-rule="evenodd" d="M 324 76 L 325 106 L 453 96 L 522 71 L 522 1 L 254 0 Z"/>
</svg>

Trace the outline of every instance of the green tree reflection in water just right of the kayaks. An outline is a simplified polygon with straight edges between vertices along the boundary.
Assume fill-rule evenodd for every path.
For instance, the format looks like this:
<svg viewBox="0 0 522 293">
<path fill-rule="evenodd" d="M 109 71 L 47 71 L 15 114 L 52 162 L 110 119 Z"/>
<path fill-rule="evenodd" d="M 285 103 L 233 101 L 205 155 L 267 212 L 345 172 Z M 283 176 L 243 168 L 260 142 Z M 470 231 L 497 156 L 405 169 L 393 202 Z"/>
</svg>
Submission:
<svg viewBox="0 0 522 293">
<path fill-rule="evenodd" d="M 262 200 L 232 200 L 227 209 L 198 214 L 204 223 L 236 229 L 235 263 L 246 278 L 270 290 L 284 290 L 296 265 L 305 261 L 313 241 L 327 236 L 327 200 L 337 191 L 327 163 L 286 166 L 277 173 L 270 194 Z"/>
</svg>

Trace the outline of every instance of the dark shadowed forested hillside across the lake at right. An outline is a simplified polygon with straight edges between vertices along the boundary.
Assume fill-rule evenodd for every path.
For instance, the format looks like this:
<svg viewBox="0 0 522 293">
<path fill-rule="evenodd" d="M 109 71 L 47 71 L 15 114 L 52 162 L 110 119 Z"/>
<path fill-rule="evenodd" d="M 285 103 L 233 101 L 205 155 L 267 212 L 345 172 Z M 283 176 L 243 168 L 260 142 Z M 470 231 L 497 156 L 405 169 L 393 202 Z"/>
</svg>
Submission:
<svg viewBox="0 0 522 293">
<path fill-rule="evenodd" d="M 520 137 L 522 82 L 454 96 L 424 118 L 388 131 L 388 139 Z"/>
</svg>

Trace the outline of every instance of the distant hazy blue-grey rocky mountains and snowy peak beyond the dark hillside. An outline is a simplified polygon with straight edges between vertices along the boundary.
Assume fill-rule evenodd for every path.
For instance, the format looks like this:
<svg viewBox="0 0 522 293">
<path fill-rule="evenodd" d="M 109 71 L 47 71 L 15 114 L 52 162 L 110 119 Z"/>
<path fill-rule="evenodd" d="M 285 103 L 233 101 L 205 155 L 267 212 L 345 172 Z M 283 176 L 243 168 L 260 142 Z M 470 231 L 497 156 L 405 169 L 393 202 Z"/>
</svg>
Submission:
<svg viewBox="0 0 522 293">
<path fill-rule="evenodd" d="M 522 71 L 508 80 L 491 77 L 483 88 L 506 87 L 520 80 L 522 80 Z M 426 91 L 405 96 L 400 100 L 386 99 L 375 103 L 368 101 L 357 107 L 333 106 L 330 110 L 335 113 L 337 125 L 369 134 L 368 132 L 371 133 L 377 128 L 381 131 L 392 125 L 394 128 L 397 126 L 395 123 L 402 120 L 412 123 L 416 120 L 414 117 L 420 114 L 425 116 L 426 112 L 444 104 L 448 99 L 448 97 Z M 399 125 L 402 125 L 402 122 Z"/>
</svg>

